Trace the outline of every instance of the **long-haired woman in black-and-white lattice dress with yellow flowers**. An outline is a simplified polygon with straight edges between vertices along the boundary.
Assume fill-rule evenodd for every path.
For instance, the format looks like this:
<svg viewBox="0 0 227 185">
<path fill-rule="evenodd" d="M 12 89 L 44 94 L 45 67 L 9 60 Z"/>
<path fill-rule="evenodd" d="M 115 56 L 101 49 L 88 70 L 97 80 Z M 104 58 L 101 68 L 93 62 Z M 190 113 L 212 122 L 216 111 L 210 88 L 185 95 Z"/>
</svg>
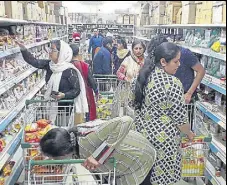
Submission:
<svg viewBox="0 0 227 185">
<path fill-rule="evenodd" d="M 180 66 L 180 48 L 168 42 L 155 48 L 153 41 L 130 97 L 136 112 L 136 129 L 157 151 L 150 182 L 170 185 L 181 179 L 180 132 L 189 139 L 194 133 L 188 124 L 182 83 L 173 76 Z"/>
</svg>

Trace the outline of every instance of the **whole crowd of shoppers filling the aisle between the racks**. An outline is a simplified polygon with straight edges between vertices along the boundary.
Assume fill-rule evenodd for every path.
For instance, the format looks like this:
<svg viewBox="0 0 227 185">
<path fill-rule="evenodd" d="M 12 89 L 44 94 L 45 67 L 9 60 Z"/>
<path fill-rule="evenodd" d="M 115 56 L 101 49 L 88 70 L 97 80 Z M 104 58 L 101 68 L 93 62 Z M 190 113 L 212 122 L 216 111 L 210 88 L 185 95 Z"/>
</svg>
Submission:
<svg viewBox="0 0 227 185">
<path fill-rule="evenodd" d="M 143 42 L 134 41 L 130 52 L 124 39 L 116 40 L 113 46 L 112 37 L 103 38 L 95 29 L 88 49 L 92 50 L 91 71 L 78 57 L 75 44 L 52 41 L 50 59 L 38 60 L 17 43 L 26 62 L 47 71 L 46 98 L 75 99 L 77 117 L 81 116 L 76 124 L 96 122 L 95 97 L 99 92 L 92 73 L 116 74 L 130 85 L 128 98 L 134 120 L 128 116 L 113 118 L 88 133 L 80 132 L 77 126 L 54 128 L 41 139 L 44 155 L 85 158 L 83 166 L 91 172 L 110 169 L 106 160 L 114 157 L 117 185 L 172 185 L 181 180 L 180 133 L 190 140 L 195 136 L 186 103 L 195 97 L 205 74 L 189 50 L 169 43 L 164 36 L 155 36 L 147 48 Z"/>
</svg>

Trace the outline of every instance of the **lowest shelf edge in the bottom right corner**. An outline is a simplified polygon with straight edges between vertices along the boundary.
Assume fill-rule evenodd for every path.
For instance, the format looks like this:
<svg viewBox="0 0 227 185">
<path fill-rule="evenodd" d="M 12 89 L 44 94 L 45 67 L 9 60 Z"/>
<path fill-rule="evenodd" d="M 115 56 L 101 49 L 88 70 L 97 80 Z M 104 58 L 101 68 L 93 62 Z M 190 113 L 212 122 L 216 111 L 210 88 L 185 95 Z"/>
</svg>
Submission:
<svg viewBox="0 0 227 185">
<path fill-rule="evenodd" d="M 207 161 L 206 164 L 206 171 L 207 171 L 207 178 L 210 180 L 210 182 L 213 185 L 224 185 L 226 184 L 226 181 L 222 177 L 216 177 L 215 176 L 215 168 L 212 166 L 212 164 Z"/>
</svg>

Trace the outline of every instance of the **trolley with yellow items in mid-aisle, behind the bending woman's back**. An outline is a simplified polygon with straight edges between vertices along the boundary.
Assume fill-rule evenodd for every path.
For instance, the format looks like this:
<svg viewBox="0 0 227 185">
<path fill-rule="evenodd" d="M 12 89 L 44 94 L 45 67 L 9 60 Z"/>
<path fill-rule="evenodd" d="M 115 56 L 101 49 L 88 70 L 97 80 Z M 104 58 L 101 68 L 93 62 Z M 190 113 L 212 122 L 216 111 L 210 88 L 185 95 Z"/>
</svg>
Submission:
<svg viewBox="0 0 227 185">
<path fill-rule="evenodd" d="M 98 90 L 99 100 L 96 103 L 98 118 L 112 118 L 113 98 L 118 86 L 116 75 L 94 75 Z"/>
</svg>

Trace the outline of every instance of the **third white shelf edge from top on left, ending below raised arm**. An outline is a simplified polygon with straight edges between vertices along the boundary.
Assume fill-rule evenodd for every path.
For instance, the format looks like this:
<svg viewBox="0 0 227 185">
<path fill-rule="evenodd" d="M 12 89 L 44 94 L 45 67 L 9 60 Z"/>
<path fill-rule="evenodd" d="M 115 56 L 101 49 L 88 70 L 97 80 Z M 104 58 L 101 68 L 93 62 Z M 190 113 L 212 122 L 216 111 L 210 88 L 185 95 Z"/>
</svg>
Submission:
<svg viewBox="0 0 227 185">
<path fill-rule="evenodd" d="M 23 79 L 27 78 L 28 76 L 30 76 L 32 73 L 34 73 L 37 70 L 38 70 L 37 68 L 32 67 L 30 69 L 27 69 L 22 74 L 15 76 L 14 78 L 7 79 L 7 82 L 5 82 L 4 84 L 2 84 L 0 86 L 0 95 L 5 93 L 6 91 L 8 91 L 10 88 L 15 86 L 19 82 L 21 82 Z"/>
</svg>

